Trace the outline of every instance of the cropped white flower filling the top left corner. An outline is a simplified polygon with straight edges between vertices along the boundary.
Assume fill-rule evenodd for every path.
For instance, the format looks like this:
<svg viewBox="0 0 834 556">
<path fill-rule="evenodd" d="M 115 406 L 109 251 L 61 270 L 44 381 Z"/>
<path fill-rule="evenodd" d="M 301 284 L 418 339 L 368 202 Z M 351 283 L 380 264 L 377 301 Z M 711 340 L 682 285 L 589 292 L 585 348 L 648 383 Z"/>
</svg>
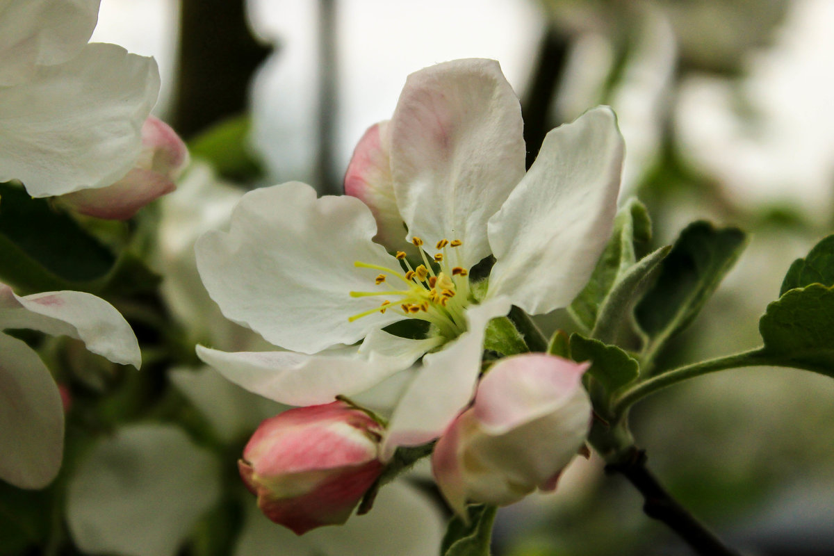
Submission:
<svg viewBox="0 0 834 556">
<path fill-rule="evenodd" d="M 88 44 L 99 0 L 0 0 L 0 181 L 33 197 L 103 188 L 136 163 L 153 58 Z"/>
</svg>

